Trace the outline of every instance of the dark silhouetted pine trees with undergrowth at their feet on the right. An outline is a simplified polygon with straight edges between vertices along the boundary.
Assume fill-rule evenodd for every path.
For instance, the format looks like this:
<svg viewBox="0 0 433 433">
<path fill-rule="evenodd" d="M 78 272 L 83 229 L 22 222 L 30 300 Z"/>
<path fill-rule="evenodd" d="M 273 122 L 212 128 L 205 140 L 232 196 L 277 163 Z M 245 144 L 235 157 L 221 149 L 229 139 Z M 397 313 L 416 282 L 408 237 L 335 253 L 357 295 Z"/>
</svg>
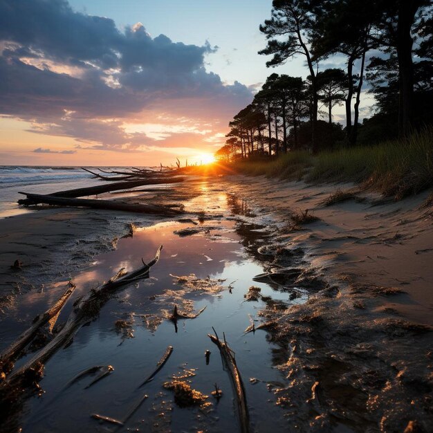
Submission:
<svg viewBox="0 0 433 433">
<path fill-rule="evenodd" d="M 408 185 L 415 190 L 423 187 L 425 174 L 414 174 L 412 169 L 412 162 L 423 158 L 412 154 L 418 147 L 424 149 L 419 144 L 422 133 L 414 142 L 409 138 L 409 144 L 380 143 L 407 138 L 432 125 L 432 1 L 273 0 L 272 4 L 270 19 L 260 26 L 266 47 L 259 54 L 271 56 L 268 67 L 303 57 L 306 76 L 270 74 L 250 104 L 234 115 L 216 158 L 255 160 L 249 170 L 283 169 L 279 174 L 290 178 L 300 176 L 308 164 L 315 180 L 366 181 L 373 176 L 374 184 L 385 190 L 389 185 L 396 195 L 405 194 Z M 344 68 L 326 68 L 330 64 Z M 367 93 L 374 96 L 370 118 L 360 105 L 365 82 Z M 344 120 L 341 113 L 335 116 L 340 105 Z M 379 147 L 367 155 L 356 145 Z M 338 150 L 342 147 L 347 150 Z M 384 154 L 389 147 L 390 156 Z M 281 154 L 300 151 L 320 156 L 311 162 L 300 154 L 280 160 Z M 257 160 L 266 157 L 277 162 L 260 168 Z M 296 167 L 286 169 L 293 164 Z M 397 178 L 398 185 L 391 185 L 384 173 Z"/>
</svg>

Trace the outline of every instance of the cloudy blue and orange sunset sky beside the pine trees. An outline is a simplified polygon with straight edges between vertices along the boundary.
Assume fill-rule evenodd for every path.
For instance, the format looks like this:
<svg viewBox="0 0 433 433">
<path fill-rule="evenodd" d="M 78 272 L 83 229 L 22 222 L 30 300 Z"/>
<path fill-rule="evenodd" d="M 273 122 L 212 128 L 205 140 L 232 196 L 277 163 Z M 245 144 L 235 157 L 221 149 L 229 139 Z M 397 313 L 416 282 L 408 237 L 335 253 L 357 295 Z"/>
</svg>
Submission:
<svg viewBox="0 0 433 433">
<path fill-rule="evenodd" d="M 302 58 L 268 69 L 257 54 L 271 8 L 0 0 L 0 165 L 159 165 L 213 154 L 270 73 L 307 75 Z"/>
</svg>

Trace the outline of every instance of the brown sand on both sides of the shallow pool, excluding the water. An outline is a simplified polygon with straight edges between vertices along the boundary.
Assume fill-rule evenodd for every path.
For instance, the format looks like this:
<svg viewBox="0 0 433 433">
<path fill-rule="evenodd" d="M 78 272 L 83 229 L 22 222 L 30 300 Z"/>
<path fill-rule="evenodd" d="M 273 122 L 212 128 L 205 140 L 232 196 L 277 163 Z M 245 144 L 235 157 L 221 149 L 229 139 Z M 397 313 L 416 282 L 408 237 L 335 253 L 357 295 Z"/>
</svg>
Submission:
<svg viewBox="0 0 433 433">
<path fill-rule="evenodd" d="M 280 359 L 275 362 L 286 377 L 286 386 L 268 389 L 275 394 L 277 405 L 300 425 L 309 423 L 312 431 L 330 428 L 335 425 L 335 417 L 343 414 L 344 425 L 349 416 L 353 423 L 369 425 L 371 431 L 379 431 L 375 426 L 380 418 L 387 426 L 382 430 L 389 432 L 404 430 L 409 421 L 433 425 L 425 412 L 424 392 L 411 385 L 432 387 L 429 353 L 433 350 L 433 298 L 428 264 L 433 253 L 433 220 L 430 209 L 421 208 L 428 192 L 398 202 L 355 192 L 348 201 L 326 206 L 324 201 L 336 190 L 349 190 L 353 185 L 282 181 L 275 185 L 275 180 L 246 176 L 219 180 L 219 185 L 212 185 L 212 178 L 203 179 L 193 183 L 194 187 L 185 182 L 150 195 L 188 203 L 187 212 L 208 206 L 217 214 L 215 197 L 234 194 L 243 199 L 245 221 L 267 226 L 268 243 L 259 252 L 254 242 L 247 250 L 256 248 L 254 253 L 266 259 L 271 275 L 299 270 L 295 279 L 286 274 L 281 284 L 306 287 L 309 300 L 282 310 L 266 304 L 257 314 L 257 331 L 264 329 L 270 342 L 280 347 Z M 306 209 L 319 220 L 293 227 L 291 215 Z M 81 256 L 73 266 L 75 272 L 82 270 L 95 254 L 116 248 L 116 237 L 127 234 L 129 222 L 145 227 L 166 220 L 172 221 L 74 208 L 39 210 L 3 219 L 0 236 L 4 240 L 6 232 L 12 236 L 12 225 L 21 223 L 23 227 L 15 230 L 15 238 L 8 239 L 8 244 L 2 243 L 1 266 L 8 268 L 21 249 L 27 257 L 39 260 L 39 264 L 31 262 L 33 275 L 54 267 L 55 273 L 44 278 L 53 275 L 55 281 L 57 275 L 58 282 L 63 275 L 65 281 L 68 275 L 64 269 L 73 264 L 71 254 Z M 4 254 L 11 240 L 14 250 Z M 74 241 L 77 249 L 66 248 Z M 30 279 L 32 273 L 26 278 Z M 29 285 L 28 293 L 32 291 L 37 291 L 37 284 L 33 288 Z M 48 292 L 39 295 L 47 304 L 56 297 L 53 293 L 44 296 Z M 11 314 L 20 314 L 19 302 L 24 299 L 20 296 L 18 291 L 18 307 L 12 308 Z M 44 310 L 40 302 L 38 308 Z M 28 319 L 23 319 L 25 329 Z M 374 369 L 380 377 L 366 382 L 367 370 Z M 383 383 L 389 384 L 386 391 Z M 398 396 L 397 406 L 391 405 L 393 395 Z M 417 402 L 415 408 L 405 403 L 407 396 Z M 330 400 L 331 406 L 326 403 Z M 311 405 L 317 412 L 315 421 L 307 415 Z"/>
</svg>

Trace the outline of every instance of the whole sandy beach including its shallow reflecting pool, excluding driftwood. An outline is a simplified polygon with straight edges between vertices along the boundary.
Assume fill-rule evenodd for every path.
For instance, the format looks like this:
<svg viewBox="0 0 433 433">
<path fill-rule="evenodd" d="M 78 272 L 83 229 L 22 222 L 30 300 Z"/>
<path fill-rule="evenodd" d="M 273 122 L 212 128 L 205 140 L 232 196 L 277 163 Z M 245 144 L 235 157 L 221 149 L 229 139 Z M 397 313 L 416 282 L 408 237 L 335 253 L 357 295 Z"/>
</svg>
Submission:
<svg viewBox="0 0 433 433">
<path fill-rule="evenodd" d="M 340 190 L 350 190 L 350 198 L 326 205 Z M 27 191 L 35 190 L 28 185 Z M 393 201 L 347 184 L 190 176 L 145 192 L 104 194 L 119 196 L 182 204 L 185 216 L 39 205 L 0 219 L 2 350 L 69 281 L 77 288 L 59 324 L 77 298 L 120 268 L 149 261 L 163 245 L 151 278 L 116 293 L 46 362 L 42 396 L 15 407 L 11 429 L 23 424 L 34 432 L 66 432 L 74 423 L 89 430 L 98 425 L 93 412 L 122 418 L 139 395 L 134 384 L 167 345 L 174 347 L 172 358 L 146 385 L 148 401 L 128 426 L 230 429 L 237 415 L 229 378 L 207 335 L 212 326 L 236 353 L 255 431 L 266 431 L 269 414 L 276 431 L 286 431 L 288 419 L 296 430 L 317 432 L 394 432 L 409 425 L 428 431 L 433 425 L 428 191 Z M 293 218 L 303 214 L 313 218 Z M 17 259 L 21 269 L 12 269 Z M 195 279 L 180 278 L 191 274 Z M 259 288 L 255 298 L 251 286 Z M 174 305 L 185 317 L 205 310 L 178 320 L 175 331 L 169 319 Z M 205 350 L 212 352 L 209 365 Z M 93 365 L 112 365 L 115 373 L 88 391 L 84 382 L 64 389 Z M 163 387 L 174 376 L 206 395 L 217 382 L 223 398 L 185 411 Z"/>
</svg>

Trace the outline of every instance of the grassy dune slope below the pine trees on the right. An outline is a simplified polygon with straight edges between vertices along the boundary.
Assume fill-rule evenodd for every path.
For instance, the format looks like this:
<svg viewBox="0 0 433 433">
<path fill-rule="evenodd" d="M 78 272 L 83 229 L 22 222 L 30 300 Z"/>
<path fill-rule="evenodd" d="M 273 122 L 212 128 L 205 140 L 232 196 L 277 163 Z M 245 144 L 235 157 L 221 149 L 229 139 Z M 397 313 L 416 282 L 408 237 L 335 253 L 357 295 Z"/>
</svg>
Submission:
<svg viewBox="0 0 433 433">
<path fill-rule="evenodd" d="M 355 182 L 401 199 L 433 186 L 433 127 L 375 146 L 311 155 L 293 151 L 268 160 L 239 160 L 238 172 L 307 182 Z"/>
</svg>

